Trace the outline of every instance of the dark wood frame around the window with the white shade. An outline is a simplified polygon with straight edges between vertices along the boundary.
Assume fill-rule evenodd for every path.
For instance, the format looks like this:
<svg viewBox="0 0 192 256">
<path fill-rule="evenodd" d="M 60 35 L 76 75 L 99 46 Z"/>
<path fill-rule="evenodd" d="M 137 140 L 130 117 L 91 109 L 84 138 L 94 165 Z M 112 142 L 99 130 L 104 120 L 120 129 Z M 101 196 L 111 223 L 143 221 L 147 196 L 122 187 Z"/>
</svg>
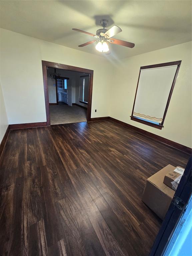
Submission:
<svg viewBox="0 0 192 256">
<path fill-rule="evenodd" d="M 161 124 L 155 124 L 155 123 L 152 123 L 150 121 L 141 120 L 141 119 L 133 116 L 133 111 L 134 111 L 135 100 L 136 100 L 136 96 L 137 96 L 137 89 L 138 89 L 138 84 L 139 84 L 139 78 L 140 78 L 141 70 L 142 69 L 149 69 L 149 68 L 159 68 L 159 67 L 173 66 L 173 65 L 177 65 L 177 70 L 175 72 L 173 83 L 171 85 L 171 89 L 170 89 L 170 92 L 169 92 L 169 97 L 168 97 L 168 100 L 167 100 L 167 104 L 166 104 L 166 107 L 165 107 L 165 111 L 164 111 L 164 115 L 163 115 L 163 120 L 162 120 Z M 163 128 L 163 124 L 164 124 L 164 121 L 165 121 L 165 116 L 167 114 L 167 109 L 169 107 L 169 102 L 171 100 L 171 95 L 173 93 L 173 89 L 174 89 L 174 86 L 175 86 L 175 82 L 176 82 L 176 79 L 177 79 L 177 75 L 178 75 L 178 72 L 179 72 L 180 65 L 181 65 L 181 60 L 140 67 L 139 78 L 138 78 L 138 81 L 137 81 L 137 88 L 136 88 L 136 92 L 135 92 L 135 99 L 134 99 L 134 103 L 133 103 L 133 110 L 132 110 L 132 114 L 130 116 L 131 120 L 139 122 L 139 123 L 142 123 L 142 124 L 146 124 L 146 125 L 152 126 L 154 128 L 160 129 L 160 130 Z"/>
</svg>

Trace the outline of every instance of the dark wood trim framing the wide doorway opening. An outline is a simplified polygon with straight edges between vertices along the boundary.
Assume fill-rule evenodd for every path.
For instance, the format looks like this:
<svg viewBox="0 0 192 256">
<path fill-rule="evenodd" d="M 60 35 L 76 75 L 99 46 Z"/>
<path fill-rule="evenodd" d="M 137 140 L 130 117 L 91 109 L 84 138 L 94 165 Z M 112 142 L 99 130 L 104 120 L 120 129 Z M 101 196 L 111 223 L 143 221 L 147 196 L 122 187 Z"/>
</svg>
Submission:
<svg viewBox="0 0 192 256">
<path fill-rule="evenodd" d="M 59 68 L 75 72 L 87 73 L 89 74 L 89 93 L 88 93 L 88 104 L 87 104 L 87 121 L 91 121 L 91 105 L 92 105 L 92 92 L 93 92 L 93 70 L 69 66 L 65 64 L 49 62 L 42 60 L 43 68 L 43 85 L 44 85 L 44 95 L 45 95 L 45 109 L 46 109 L 46 118 L 47 125 L 50 125 L 50 113 L 49 113 L 49 94 L 48 94 L 48 84 L 47 84 L 47 67 L 50 68 Z"/>
</svg>

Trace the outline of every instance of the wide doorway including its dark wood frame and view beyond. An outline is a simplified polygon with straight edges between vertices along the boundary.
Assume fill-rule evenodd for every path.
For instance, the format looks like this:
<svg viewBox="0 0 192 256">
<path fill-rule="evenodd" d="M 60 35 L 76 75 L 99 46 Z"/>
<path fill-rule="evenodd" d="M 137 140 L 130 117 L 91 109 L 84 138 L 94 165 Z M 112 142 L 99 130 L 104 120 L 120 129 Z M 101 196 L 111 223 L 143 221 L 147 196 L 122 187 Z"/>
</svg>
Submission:
<svg viewBox="0 0 192 256">
<path fill-rule="evenodd" d="M 93 70 L 42 61 L 47 125 L 91 120 Z"/>
</svg>

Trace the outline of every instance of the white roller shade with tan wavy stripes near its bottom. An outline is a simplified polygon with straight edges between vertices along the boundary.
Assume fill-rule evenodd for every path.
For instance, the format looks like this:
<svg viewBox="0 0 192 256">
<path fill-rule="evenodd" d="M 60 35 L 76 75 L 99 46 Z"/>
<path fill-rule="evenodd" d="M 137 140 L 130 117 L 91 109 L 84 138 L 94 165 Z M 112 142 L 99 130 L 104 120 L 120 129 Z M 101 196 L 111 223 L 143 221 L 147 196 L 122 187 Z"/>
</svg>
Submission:
<svg viewBox="0 0 192 256">
<path fill-rule="evenodd" d="M 161 123 L 177 65 L 142 69 L 133 116 Z"/>
</svg>

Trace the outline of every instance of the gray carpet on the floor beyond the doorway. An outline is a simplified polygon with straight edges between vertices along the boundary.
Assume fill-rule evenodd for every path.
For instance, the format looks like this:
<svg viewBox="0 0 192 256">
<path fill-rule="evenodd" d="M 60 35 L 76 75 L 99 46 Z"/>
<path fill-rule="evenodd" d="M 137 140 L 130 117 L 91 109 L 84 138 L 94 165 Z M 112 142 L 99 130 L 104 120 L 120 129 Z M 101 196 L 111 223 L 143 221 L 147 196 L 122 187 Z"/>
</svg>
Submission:
<svg viewBox="0 0 192 256">
<path fill-rule="evenodd" d="M 73 105 L 49 106 L 50 119 L 52 124 L 68 124 L 87 121 L 87 110 Z"/>
</svg>

